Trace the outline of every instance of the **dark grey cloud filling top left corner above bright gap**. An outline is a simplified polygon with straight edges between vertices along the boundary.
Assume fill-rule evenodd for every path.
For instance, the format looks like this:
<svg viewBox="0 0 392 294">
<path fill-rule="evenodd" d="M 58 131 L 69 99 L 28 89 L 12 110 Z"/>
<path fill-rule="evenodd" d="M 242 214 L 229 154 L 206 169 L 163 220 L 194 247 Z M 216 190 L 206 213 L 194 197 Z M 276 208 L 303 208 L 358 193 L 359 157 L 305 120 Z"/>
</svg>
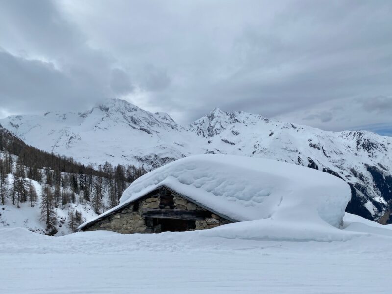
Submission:
<svg viewBox="0 0 392 294">
<path fill-rule="evenodd" d="M 10 49 L 67 58 L 85 41 L 50 0 L 0 1 L 2 42 Z"/>
</svg>

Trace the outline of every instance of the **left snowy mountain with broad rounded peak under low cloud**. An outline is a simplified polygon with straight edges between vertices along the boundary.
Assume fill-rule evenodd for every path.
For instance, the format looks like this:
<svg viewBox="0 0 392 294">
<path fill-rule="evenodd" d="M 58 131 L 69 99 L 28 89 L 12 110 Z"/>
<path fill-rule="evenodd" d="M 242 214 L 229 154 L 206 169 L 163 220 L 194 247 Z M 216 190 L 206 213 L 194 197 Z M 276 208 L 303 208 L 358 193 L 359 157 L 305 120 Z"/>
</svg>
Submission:
<svg viewBox="0 0 392 294">
<path fill-rule="evenodd" d="M 190 136 L 166 113 L 150 113 L 110 99 L 83 113 L 17 115 L 0 124 L 27 144 L 82 163 L 127 163 L 155 168 L 190 155 Z"/>
</svg>

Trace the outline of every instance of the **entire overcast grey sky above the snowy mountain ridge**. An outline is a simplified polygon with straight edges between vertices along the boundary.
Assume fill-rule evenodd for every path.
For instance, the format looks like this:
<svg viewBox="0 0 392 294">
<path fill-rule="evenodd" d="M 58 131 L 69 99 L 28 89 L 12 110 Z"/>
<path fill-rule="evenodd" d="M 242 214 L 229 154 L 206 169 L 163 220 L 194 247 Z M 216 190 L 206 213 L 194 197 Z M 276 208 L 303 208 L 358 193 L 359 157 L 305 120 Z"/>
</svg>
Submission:
<svg viewBox="0 0 392 294">
<path fill-rule="evenodd" d="M 0 117 L 105 98 L 392 134 L 392 1 L 0 0 Z"/>
</svg>

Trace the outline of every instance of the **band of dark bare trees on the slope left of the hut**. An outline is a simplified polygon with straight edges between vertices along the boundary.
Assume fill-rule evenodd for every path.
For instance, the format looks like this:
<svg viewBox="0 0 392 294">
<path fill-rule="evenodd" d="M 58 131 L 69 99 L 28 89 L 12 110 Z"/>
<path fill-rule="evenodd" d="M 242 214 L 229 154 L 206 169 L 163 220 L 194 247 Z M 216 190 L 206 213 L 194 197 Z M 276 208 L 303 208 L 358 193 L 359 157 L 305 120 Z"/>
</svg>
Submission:
<svg viewBox="0 0 392 294">
<path fill-rule="evenodd" d="M 40 217 L 49 234 L 56 233 L 57 208 L 69 207 L 67 224 L 74 232 L 83 220 L 70 204 L 90 204 L 102 213 L 116 206 L 123 191 L 144 173 L 143 168 L 109 162 L 98 169 L 85 166 L 71 157 L 31 147 L 0 126 L 0 203 L 33 207 L 40 198 Z M 33 181 L 40 184 L 40 197 Z"/>
</svg>

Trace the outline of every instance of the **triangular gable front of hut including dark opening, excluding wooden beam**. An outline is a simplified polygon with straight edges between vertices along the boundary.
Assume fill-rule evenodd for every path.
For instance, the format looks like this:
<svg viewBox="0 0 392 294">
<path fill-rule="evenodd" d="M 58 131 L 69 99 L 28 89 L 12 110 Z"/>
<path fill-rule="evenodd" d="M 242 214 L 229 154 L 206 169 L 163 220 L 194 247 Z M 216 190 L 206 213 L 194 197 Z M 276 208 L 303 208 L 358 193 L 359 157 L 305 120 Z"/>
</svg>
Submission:
<svg viewBox="0 0 392 294">
<path fill-rule="evenodd" d="M 197 220 L 182 220 L 150 218 L 144 216 L 146 211 L 154 209 L 177 210 L 178 212 L 199 211 L 199 213 L 204 215 L 204 217 Z M 168 226 L 168 220 L 170 226 Z M 122 234 L 161 233 L 164 231 L 193 231 L 210 229 L 231 222 L 232 221 L 226 220 L 181 196 L 162 196 L 157 193 L 153 196 L 143 197 L 133 203 L 130 203 L 128 206 L 123 207 L 114 214 L 83 228 L 83 230 L 106 230 Z"/>
</svg>

